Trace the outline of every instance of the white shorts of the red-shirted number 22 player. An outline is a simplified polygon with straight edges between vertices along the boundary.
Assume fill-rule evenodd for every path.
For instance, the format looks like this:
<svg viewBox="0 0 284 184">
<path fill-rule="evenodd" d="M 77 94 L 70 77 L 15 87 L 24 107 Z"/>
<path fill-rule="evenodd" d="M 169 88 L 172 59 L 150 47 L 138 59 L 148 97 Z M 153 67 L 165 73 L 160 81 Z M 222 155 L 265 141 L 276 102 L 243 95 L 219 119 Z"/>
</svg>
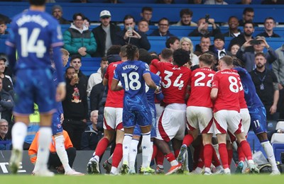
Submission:
<svg viewBox="0 0 284 184">
<path fill-rule="evenodd" d="M 213 134 L 213 113 L 212 108 L 188 106 L 186 110 L 187 115 L 187 129 L 200 129 L 202 134 Z"/>
</svg>

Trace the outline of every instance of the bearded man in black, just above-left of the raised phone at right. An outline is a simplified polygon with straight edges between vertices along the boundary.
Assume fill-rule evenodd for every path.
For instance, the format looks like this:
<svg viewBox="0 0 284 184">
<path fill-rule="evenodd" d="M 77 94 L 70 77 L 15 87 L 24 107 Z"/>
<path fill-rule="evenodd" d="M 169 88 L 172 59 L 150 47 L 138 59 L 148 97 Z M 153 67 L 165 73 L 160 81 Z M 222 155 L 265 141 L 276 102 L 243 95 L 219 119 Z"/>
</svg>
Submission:
<svg viewBox="0 0 284 184">
<path fill-rule="evenodd" d="M 231 39 L 228 50 L 231 51 L 231 45 L 244 45 L 248 40 L 253 39 L 254 25 L 253 22 L 248 21 L 244 24 L 244 33 L 240 34 L 236 38 Z M 253 52 L 253 47 L 246 47 L 246 52 Z"/>
</svg>

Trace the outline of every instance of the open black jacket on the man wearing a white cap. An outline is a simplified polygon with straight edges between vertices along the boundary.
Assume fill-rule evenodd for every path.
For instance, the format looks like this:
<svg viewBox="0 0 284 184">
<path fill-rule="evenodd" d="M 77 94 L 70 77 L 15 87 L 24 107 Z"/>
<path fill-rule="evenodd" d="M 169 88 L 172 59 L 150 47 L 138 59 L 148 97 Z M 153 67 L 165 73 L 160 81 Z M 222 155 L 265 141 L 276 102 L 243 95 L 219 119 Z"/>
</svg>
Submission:
<svg viewBox="0 0 284 184">
<path fill-rule="evenodd" d="M 110 24 L 112 43 L 114 43 L 116 33 L 118 33 L 119 31 L 121 31 L 119 26 L 114 25 L 113 23 Z M 94 34 L 94 39 L 96 39 L 97 42 L 97 51 L 94 53 L 94 57 L 104 57 L 104 51 L 106 50 L 107 33 L 102 28 L 102 24 L 99 25 L 97 28 L 94 28 L 92 30 L 92 33 Z"/>
</svg>

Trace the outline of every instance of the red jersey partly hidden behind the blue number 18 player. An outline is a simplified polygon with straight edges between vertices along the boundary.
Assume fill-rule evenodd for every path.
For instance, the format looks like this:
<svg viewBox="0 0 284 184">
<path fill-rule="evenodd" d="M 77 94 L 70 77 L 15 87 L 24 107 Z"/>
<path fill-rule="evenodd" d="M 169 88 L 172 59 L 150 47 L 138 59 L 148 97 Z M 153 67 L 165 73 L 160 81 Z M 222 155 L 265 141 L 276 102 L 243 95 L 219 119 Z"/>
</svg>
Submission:
<svg viewBox="0 0 284 184">
<path fill-rule="evenodd" d="M 111 81 L 114 77 L 114 70 L 116 69 L 118 64 L 122 62 L 113 62 L 109 64 L 107 67 L 107 72 L 104 75 L 104 78 L 109 80 L 109 91 L 107 93 L 107 101 L 105 107 L 111 108 L 123 108 L 124 107 L 124 90 L 121 91 L 111 91 Z"/>
</svg>

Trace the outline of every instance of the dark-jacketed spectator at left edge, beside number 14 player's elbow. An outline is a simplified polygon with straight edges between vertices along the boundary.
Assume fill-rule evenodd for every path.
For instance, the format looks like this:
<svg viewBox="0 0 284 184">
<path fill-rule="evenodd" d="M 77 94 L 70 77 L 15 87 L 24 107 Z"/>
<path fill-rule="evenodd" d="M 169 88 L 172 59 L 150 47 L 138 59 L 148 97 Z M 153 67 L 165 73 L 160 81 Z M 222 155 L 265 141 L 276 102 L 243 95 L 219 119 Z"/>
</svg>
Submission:
<svg viewBox="0 0 284 184">
<path fill-rule="evenodd" d="M 12 97 L 14 95 L 13 93 L 13 81 L 11 79 L 11 76 L 5 75 L 5 62 L 6 58 L 5 57 L 0 57 L 0 78 L 2 79 L 2 88 L 4 91 L 8 92 Z M 10 121 L 9 121 L 10 122 Z"/>
</svg>

